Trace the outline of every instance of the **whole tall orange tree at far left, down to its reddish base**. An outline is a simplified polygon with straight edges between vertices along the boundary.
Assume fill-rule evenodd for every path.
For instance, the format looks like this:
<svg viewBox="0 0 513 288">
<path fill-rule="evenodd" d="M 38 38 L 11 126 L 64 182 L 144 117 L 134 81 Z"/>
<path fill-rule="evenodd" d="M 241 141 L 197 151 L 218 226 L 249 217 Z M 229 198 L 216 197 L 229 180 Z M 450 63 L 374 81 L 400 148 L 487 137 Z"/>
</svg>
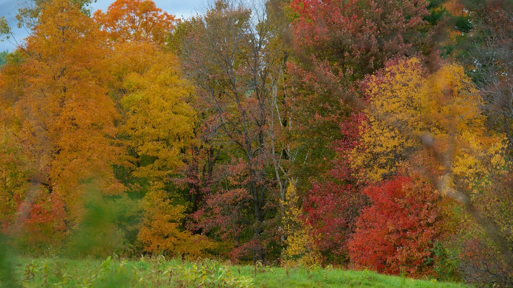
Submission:
<svg viewBox="0 0 513 288">
<path fill-rule="evenodd" d="M 28 188 L 12 229 L 19 230 L 26 217 L 48 213 L 73 229 L 84 214 L 88 184 L 105 196 L 124 190 L 112 171 L 122 151 L 112 145 L 118 115 L 101 86 L 101 34 L 78 5 L 48 1 L 19 53 L 6 75 L 15 98 L 3 100 L 12 101 L 7 127 L 28 168 Z M 56 205 L 65 215 L 42 211 Z"/>
</svg>

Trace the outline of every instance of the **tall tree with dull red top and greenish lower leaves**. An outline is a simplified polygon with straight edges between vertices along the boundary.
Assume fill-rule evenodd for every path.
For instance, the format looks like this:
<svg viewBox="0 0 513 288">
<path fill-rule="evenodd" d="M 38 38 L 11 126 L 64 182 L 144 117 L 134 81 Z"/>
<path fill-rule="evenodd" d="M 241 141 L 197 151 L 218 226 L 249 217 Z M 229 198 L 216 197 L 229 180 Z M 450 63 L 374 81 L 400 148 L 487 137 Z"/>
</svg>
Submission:
<svg viewBox="0 0 513 288">
<path fill-rule="evenodd" d="M 333 168 L 339 125 L 360 109 L 354 105 L 359 81 L 386 59 L 422 50 L 418 32 L 426 27 L 428 10 L 423 0 L 297 0 L 290 7 L 291 106 L 298 124 L 293 139 L 297 157 L 305 160 L 295 173 L 307 180 Z"/>
</svg>

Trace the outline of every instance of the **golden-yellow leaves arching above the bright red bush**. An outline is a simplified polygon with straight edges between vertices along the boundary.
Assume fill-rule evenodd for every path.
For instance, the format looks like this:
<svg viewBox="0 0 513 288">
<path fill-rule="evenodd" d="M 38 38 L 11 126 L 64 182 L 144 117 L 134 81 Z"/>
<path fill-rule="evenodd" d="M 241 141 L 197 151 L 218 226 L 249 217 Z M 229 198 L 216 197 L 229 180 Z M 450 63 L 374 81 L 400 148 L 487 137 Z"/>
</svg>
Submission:
<svg viewBox="0 0 513 288">
<path fill-rule="evenodd" d="M 362 181 L 395 173 L 423 149 L 425 134 L 434 137 L 435 150 L 452 155 L 451 172 L 464 175 L 471 189 L 489 174 L 491 166 L 484 163 L 503 163 L 501 140 L 487 133 L 478 109 L 481 99 L 461 66 L 445 64 L 430 74 L 419 59 L 402 59 L 364 84 L 368 122 L 350 155 Z"/>
</svg>

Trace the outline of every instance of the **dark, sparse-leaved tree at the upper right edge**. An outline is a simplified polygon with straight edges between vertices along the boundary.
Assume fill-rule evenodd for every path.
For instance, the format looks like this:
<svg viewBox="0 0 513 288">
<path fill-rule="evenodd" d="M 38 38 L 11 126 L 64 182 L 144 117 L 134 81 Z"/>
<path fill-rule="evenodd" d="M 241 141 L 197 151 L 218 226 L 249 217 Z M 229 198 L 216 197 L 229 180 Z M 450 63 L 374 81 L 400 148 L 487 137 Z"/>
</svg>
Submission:
<svg viewBox="0 0 513 288">
<path fill-rule="evenodd" d="M 473 30 L 478 36 L 467 40 L 473 43 L 465 61 L 473 68 L 471 73 L 483 98 L 480 106 L 488 116 L 488 125 L 506 134 L 511 150 L 513 58 L 509 51 L 513 47 L 513 6 L 507 1 L 487 1 L 476 6 L 470 7 L 474 8 L 472 20 L 477 27 Z"/>
</svg>

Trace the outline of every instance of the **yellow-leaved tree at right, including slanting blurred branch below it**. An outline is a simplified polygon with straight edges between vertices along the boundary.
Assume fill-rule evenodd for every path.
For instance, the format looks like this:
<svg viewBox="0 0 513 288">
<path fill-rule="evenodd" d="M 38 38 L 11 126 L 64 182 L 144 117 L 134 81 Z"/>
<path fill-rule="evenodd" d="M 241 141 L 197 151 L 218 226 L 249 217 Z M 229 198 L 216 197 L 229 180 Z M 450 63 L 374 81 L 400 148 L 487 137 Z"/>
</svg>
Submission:
<svg viewBox="0 0 513 288">
<path fill-rule="evenodd" d="M 389 179 L 404 167 L 421 173 L 462 204 L 509 259 L 499 225 L 476 202 L 491 179 L 506 175 L 504 138 L 486 129 L 481 98 L 463 68 L 445 64 L 426 74 L 418 59 L 400 59 L 369 76 L 364 88 L 368 121 L 350 156 L 360 181 Z"/>
</svg>

